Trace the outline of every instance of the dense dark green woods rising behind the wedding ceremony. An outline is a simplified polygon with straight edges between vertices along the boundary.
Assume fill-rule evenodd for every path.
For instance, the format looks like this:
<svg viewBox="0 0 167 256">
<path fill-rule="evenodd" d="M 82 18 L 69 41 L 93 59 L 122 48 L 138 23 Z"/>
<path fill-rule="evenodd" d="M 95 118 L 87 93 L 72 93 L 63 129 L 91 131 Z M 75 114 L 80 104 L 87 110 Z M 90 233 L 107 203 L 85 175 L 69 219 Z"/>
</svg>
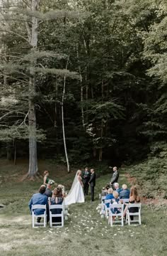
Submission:
<svg viewBox="0 0 167 256">
<path fill-rule="evenodd" d="M 165 0 L 4 0 L 0 28 L 1 157 L 166 166 Z"/>
</svg>

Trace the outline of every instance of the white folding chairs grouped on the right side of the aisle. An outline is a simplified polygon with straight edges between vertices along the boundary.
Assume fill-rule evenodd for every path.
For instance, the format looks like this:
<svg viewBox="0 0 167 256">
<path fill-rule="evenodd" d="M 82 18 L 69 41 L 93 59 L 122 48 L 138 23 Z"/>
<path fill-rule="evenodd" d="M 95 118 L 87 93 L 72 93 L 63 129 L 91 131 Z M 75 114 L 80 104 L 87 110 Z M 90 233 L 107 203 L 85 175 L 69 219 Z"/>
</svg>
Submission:
<svg viewBox="0 0 167 256">
<path fill-rule="evenodd" d="M 102 213 L 105 218 L 108 219 L 108 223 L 113 226 L 113 223 L 121 223 L 121 225 L 124 225 L 124 210 L 125 205 L 124 203 L 127 203 L 127 212 L 126 212 L 126 220 L 125 223 L 128 223 L 128 225 L 131 225 L 132 223 L 139 223 L 141 225 L 141 203 L 129 203 L 129 199 L 123 199 L 123 203 L 110 203 L 111 199 L 105 200 L 105 196 L 101 198 L 101 210 L 100 213 Z M 128 204 L 129 203 L 129 204 Z M 107 207 L 107 205 L 109 207 Z M 117 209 L 119 213 L 113 213 L 112 209 Z M 137 212 L 131 212 L 130 209 L 132 208 L 138 208 Z M 116 210 L 116 212 L 117 212 Z M 135 218 L 135 219 L 131 219 Z"/>
</svg>

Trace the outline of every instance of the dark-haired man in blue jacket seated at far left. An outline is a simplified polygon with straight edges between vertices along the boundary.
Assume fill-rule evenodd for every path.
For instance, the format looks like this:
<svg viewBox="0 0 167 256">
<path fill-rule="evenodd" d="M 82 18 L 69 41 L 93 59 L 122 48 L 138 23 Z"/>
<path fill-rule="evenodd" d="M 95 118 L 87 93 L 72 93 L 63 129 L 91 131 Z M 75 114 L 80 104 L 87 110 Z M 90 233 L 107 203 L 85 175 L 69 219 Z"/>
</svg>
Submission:
<svg viewBox="0 0 167 256">
<path fill-rule="evenodd" d="M 31 208 L 32 206 L 36 205 L 36 204 L 40 204 L 40 205 L 46 205 L 47 206 L 47 222 L 50 220 L 50 216 L 49 216 L 49 210 L 48 210 L 48 199 L 47 196 L 45 195 L 45 185 L 40 186 L 39 189 L 39 193 L 35 193 L 33 194 L 32 198 L 30 198 L 30 202 L 28 203 L 28 206 Z M 43 214 L 45 211 L 45 209 L 35 209 L 34 213 L 35 215 L 40 215 Z M 37 219 L 37 222 L 40 223 L 41 218 Z"/>
</svg>

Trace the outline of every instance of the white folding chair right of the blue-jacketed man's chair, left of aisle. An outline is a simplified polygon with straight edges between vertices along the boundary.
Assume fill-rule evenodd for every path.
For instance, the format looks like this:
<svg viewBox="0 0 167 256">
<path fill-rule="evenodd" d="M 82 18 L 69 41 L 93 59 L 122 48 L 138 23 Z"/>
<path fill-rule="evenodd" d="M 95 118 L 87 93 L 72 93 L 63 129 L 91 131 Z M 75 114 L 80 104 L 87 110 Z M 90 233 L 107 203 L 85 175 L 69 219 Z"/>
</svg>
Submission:
<svg viewBox="0 0 167 256">
<path fill-rule="evenodd" d="M 64 204 L 62 205 L 50 205 L 49 206 L 50 208 L 50 227 L 55 227 L 55 228 L 62 228 L 64 227 Z M 59 214 L 54 214 L 52 213 L 52 209 L 62 209 L 62 213 L 59 213 Z M 61 222 L 52 222 L 52 218 L 53 217 L 60 217 L 61 218 Z"/>
</svg>

